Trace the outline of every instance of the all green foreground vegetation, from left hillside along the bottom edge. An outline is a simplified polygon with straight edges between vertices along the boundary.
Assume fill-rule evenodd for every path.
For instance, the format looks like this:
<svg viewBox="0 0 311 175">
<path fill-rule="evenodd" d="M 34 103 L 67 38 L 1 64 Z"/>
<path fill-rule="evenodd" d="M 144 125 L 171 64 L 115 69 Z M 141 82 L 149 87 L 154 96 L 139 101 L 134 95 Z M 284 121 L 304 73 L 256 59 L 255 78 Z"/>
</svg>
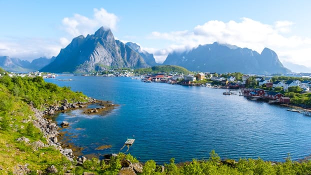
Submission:
<svg viewBox="0 0 311 175">
<path fill-rule="evenodd" d="M 34 144 L 46 144 L 47 141 L 33 125 L 35 116 L 28 104 L 32 101 L 37 108 L 43 109 L 45 105 L 55 104 L 64 98 L 71 102 L 87 99 L 81 92 L 47 83 L 41 77 L 0 77 L 0 174 L 48 174 L 46 169 L 51 165 L 57 169 L 52 174 L 64 174 L 67 170 L 72 174 L 133 172 L 129 167 L 121 170 L 130 163 L 138 162 L 130 154 L 119 153 L 110 160 L 92 158 L 76 166 L 76 161 L 70 162 L 53 146 L 40 147 Z M 29 141 L 17 141 L 22 136 Z M 297 162 L 289 156 L 285 162 L 270 162 L 260 158 L 221 160 L 214 151 L 206 160 L 193 159 L 191 162 L 175 164 L 172 158 L 163 166 L 148 160 L 141 167 L 142 172 L 137 174 L 311 174 L 310 160 Z"/>
</svg>

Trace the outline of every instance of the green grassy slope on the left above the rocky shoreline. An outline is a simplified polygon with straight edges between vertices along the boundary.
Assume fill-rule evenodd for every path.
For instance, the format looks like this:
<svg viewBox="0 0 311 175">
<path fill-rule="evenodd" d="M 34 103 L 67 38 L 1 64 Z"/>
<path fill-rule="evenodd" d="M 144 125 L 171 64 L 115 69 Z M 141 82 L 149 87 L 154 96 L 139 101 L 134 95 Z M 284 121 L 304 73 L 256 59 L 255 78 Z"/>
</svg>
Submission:
<svg viewBox="0 0 311 175">
<path fill-rule="evenodd" d="M 51 165 L 57 169 L 71 165 L 54 147 L 35 146 L 35 141 L 47 142 L 42 132 L 33 125 L 35 117 L 28 105 L 32 101 L 35 107 L 44 108 L 64 98 L 85 101 L 86 96 L 68 87 L 47 83 L 39 76 L 0 77 L 0 174 L 44 172 Z M 16 140 L 22 136 L 29 141 Z"/>
</svg>

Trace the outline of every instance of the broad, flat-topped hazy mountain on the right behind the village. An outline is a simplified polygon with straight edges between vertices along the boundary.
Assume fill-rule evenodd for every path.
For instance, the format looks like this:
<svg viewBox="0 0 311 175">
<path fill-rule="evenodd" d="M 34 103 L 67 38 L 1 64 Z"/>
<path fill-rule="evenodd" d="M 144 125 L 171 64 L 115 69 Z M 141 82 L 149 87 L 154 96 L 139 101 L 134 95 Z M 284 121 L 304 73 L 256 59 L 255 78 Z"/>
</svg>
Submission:
<svg viewBox="0 0 311 175">
<path fill-rule="evenodd" d="M 264 48 L 259 54 L 249 48 L 218 42 L 199 45 L 189 51 L 170 53 L 163 64 L 179 65 L 192 71 L 203 72 L 271 74 L 290 71 L 282 65 L 277 54 L 269 48 Z"/>
</svg>

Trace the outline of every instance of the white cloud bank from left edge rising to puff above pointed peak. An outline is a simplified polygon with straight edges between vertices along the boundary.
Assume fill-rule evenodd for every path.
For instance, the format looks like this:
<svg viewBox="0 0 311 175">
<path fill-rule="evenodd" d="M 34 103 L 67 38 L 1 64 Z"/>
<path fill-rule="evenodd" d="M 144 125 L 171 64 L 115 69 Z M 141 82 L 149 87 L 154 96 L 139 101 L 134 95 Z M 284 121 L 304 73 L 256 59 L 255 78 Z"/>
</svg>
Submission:
<svg viewBox="0 0 311 175">
<path fill-rule="evenodd" d="M 61 27 L 66 33 L 59 39 L 51 38 L 0 38 L 0 56 L 8 55 L 21 59 L 32 60 L 41 56 L 56 56 L 60 48 L 70 43 L 72 37 L 80 34 L 92 34 L 100 26 L 116 29 L 118 17 L 107 12 L 105 9 L 94 8 L 93 16 L 88 18 L 81 14 L 73 14 L 71 17 L 64 17 Z"/>
</svg>

